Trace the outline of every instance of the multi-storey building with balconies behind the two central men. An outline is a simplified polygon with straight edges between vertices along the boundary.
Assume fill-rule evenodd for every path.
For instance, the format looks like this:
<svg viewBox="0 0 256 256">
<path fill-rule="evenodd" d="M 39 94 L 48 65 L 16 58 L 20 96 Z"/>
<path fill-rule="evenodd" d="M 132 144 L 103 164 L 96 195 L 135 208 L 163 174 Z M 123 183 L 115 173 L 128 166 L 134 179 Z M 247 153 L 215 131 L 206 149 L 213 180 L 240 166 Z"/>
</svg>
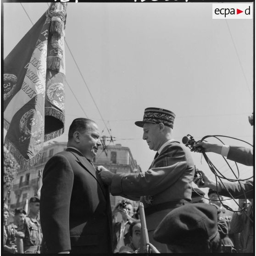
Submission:
<svg viewBox="0 0 256 256">
<path fill-rule="evenodd" d="M 13 182 L 11 193 L 8 198 L 8 206 L 11 210 L 24 207 L 26 199 L 32 197 L 39 186 L 39 174 L 44 170 L 46 162 L 51 156 L 67 148 L 67 142 L 50 142 L 44 147 L 44 156 L 29 170 L 18 170 L 17 177 Z M 120 144 L 109 145 L 103 150 L 100 147 L 94 159 L 95 167 L 102 165 L 112 173 L 135 173 L 141 172 L 139 165 L 134 160 L 128 147 Z M 114 207 L 123 198 L 111 195 L 111 206 Z M 137 206 L 136 202 L 133 202 Z"/>
</svg>

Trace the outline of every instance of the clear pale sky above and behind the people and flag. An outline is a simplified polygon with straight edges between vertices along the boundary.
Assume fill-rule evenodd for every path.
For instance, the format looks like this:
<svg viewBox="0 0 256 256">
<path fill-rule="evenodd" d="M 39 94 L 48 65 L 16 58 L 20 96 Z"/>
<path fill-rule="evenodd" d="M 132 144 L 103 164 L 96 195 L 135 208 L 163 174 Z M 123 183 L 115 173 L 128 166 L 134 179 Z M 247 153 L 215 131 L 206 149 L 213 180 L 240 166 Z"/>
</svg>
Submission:
<svg viewBox="0 0 256 256">
<path fill-rule="evenodd" d="M 47 3 L 3 4 L 3 58 L 47 8 Z M 146 171 L 155 152 L 134 122 L 142 120 L 145 108 L 161 107 L 176 114 L 178 141 L 191 134 L 195 140 L 224 135 L 253 143 L 252 19 L 212 19 L 212 3 L 78 2 L 67 4 L 65 34 L 65 132 L 55 141 L 67 141 L 73 119 L 88 117 L 101 135 L 110 136 L 109 130 L 115 144 L 129 147 Z M 214 178 L 201 154 L 192 156 L 196 167 Z M 221 156 L 208 156 L 234 178 Z M 239 165 L 239 171 L 249 178 L 253 168 Z"/>
</svg>

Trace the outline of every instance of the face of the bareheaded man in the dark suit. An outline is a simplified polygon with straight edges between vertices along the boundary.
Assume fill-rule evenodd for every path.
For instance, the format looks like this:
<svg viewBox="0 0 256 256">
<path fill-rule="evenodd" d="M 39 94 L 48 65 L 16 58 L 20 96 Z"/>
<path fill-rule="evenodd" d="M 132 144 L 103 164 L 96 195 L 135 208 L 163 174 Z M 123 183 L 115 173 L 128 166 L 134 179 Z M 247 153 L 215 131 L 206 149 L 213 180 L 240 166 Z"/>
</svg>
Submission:
<svg viewBox="0 0 256 256">
<path fill-rule="evenodd" d="M 93 160 L 100 145 L 99 128 L 94 122 L 89 123 L 87 131 L 80 133 L 78 149 L 87 159 Z"/>
</svg>

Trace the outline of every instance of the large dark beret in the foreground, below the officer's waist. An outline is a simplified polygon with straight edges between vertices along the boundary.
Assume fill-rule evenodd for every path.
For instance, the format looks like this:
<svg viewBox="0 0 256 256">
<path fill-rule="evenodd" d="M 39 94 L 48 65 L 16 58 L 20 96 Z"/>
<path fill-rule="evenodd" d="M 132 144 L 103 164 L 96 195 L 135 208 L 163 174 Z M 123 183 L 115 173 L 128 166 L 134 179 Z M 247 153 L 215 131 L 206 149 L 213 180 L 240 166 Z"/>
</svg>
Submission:
<svg viewBox="0 0 256 256">
<path fill-rule="evenodd" d="M 205 203 L 195 203 L 169 212 L 156 228 L 154 239 L 171 245 L 195 237 L 211 240 L 217 232 L 217 209 Z M 203 241 L 199 239 L 200 242 Z"/>
</svg>

